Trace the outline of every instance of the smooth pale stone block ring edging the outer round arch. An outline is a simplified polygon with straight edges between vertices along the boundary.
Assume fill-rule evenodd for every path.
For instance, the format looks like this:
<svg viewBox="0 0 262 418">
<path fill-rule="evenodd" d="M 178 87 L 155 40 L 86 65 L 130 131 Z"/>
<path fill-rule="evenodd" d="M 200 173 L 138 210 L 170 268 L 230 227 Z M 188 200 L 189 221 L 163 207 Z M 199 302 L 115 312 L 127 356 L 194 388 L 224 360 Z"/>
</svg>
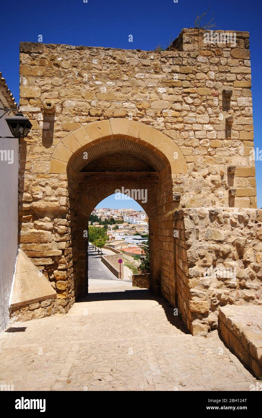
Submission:
<svg viewBox="0 0 262 418">
<path fill-rule="evenodd" d="M 170 167 L 171 173 L 188 171 L 182 151 L 170 137 L 144 123 L 113 118 L 91 122 L 64 138 L 52 154 L 49 173 L 67 173 L 72 161 L 83 150 L 116 137 L 128 138 L 153 150 Z"/>
</svg>

